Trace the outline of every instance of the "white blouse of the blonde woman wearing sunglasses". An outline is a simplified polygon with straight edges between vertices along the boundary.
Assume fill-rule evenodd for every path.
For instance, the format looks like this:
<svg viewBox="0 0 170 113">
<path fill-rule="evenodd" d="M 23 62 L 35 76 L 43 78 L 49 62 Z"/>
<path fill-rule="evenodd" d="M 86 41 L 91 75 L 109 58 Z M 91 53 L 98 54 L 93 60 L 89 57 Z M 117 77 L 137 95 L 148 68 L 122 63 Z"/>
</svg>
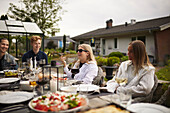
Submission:
<svg viewBox="0 0 170 113">
<path fill-rule="evenodd" d="M 78 65 L 79 63 L 76 63 L 73 68 L 76 68 Z M 64 67 L 64 72 L 70 79 L 72 79 L 72 73 L 68 69 L 68 66 Z M 91 84 L 93 79 L 97 76 L 97 73 L 97 64 L 94 61 L 89 61 L 88 63 L 82 65 L 82 67 L 79 69 L 79 73 L 75 74 L 74 79 L 82 81 L 85 84 Z"/>
</svg>

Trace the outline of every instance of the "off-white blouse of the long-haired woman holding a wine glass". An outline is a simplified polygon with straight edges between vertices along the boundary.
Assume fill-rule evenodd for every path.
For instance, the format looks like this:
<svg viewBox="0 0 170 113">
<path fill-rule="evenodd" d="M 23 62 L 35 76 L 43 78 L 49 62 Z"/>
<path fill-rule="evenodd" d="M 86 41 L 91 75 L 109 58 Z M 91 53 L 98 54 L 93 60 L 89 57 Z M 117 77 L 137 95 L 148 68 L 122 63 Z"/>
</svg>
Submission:
<svg viewBox="0 0 170 113">
<path fill-rule="evenodd" d="M 138 71 L 137 75 L 134 75 L 132 71 L 133 67 L 131 61 L 122 62 L 118 73 L 114 78 L 107 83 L 107 87 L 112 86 L 113 89 L 117 87 L 115 82 L 116 77 L 126 77 L 128 83 L 123 87 L 117 88 L 117 93 L 131 92 L 133 97 L 145 96 L 149 94 L 154 86 L 154 74 L 155 68 L 153 66 L 144 66 Z"/>
</svg>

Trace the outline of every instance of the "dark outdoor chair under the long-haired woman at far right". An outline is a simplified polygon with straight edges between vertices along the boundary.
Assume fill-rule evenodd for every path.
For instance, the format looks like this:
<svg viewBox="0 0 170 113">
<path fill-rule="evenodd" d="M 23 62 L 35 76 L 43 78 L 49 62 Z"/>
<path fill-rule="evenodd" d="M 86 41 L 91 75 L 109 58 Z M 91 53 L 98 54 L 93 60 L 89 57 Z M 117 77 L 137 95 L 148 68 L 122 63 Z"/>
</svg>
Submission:
<svg viewBox="0 0 170 113">
<path fill-rule="evenodd" d="M 158 86 L 158 78 L 157 78 L 156 75 L 154 75 L 154 81 L 155 81 L 155 83 L 154 83 L 154 86 L 153 86 L 151 92 L 147 96 L 145 96 L 145 97 L 134 98 L 132 103 L 138 103 L 138 102 L 151 103 L 153 94 L 154 94 L 154 92 L 155 92 L 155 90 L 156 90 L 156 88 Z"/>
</svg>

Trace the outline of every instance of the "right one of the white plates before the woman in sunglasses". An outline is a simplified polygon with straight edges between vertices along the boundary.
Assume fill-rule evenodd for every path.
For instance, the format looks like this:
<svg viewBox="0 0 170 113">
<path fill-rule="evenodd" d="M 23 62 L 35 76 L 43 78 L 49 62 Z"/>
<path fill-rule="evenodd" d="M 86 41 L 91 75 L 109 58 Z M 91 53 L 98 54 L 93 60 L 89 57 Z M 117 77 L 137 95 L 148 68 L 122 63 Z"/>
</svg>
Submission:
<svg viewBox="0 0 170 113">
<path fill-rule="evenodd" d="M 82 91 L 82 92 L 99 90 L 99 86 L 93 84 L 80 84 L 80 85 L 73 85 L 73 86 L 77 86 L 77 91 Z"/>
</svg>

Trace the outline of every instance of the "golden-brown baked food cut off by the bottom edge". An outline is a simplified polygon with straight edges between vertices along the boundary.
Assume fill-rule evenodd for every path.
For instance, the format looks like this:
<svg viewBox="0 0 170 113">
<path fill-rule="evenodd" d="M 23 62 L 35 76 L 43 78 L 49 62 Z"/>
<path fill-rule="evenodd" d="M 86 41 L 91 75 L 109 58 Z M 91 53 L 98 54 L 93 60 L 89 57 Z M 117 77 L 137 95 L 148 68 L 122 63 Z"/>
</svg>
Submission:
<svg viewBox="0 0 170 113">
<path fill-rule="evenodd" d="M 127 110 L 122 110 L 115 105 L 109 105 L 102 108 L 91 109 L 83 113 L 130 113 Z"/>
</svg>

